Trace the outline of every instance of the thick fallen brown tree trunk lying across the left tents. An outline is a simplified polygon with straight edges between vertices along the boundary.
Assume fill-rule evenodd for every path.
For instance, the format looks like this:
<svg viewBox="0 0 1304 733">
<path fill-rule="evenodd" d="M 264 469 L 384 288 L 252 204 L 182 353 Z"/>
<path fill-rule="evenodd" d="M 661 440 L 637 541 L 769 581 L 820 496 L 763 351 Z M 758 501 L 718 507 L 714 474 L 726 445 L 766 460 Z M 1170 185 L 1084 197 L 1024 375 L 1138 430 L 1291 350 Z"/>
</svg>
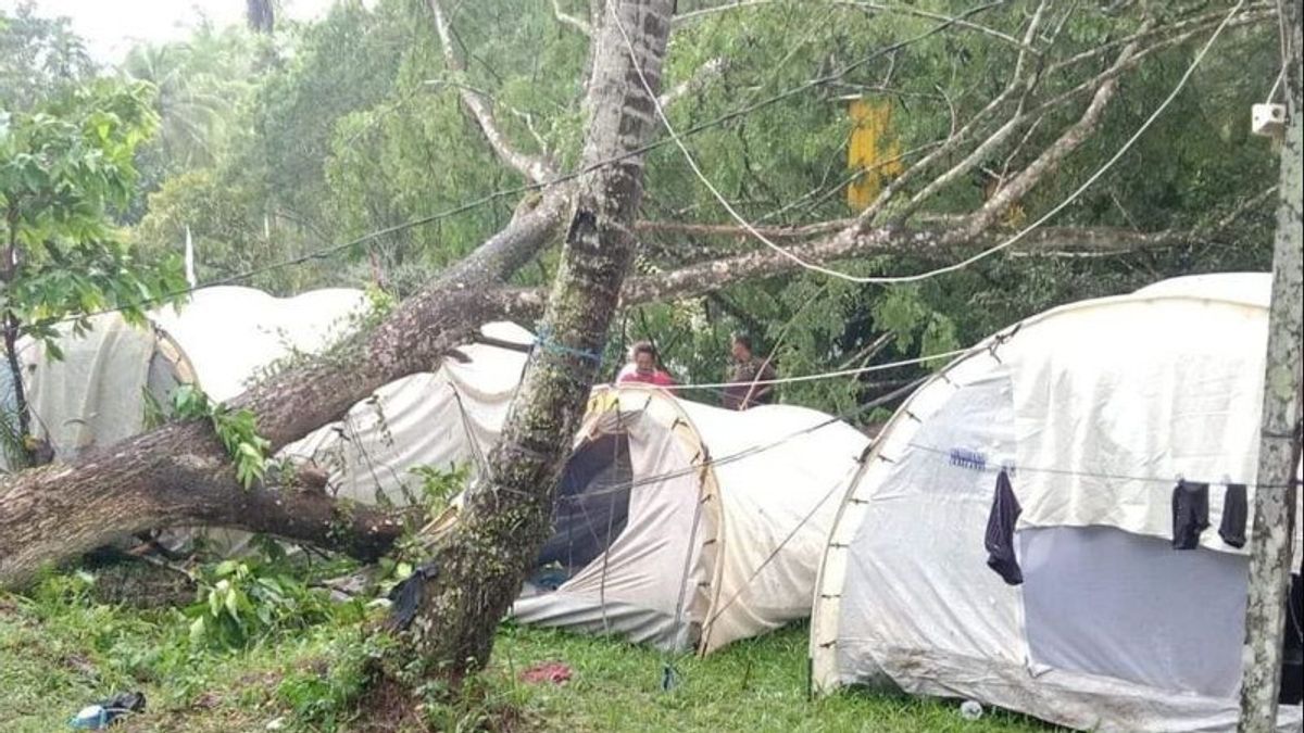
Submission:
<svg viewBox="0 0 1304 733">
<path fill-rule="evenodd" d="M 339 419 L 377 387 L 436 368 L 481 323 L 511 316 L 512 303 L 485 297 L 549 240 L 563 192 L 518 217 L 454 270 L 366 334 L 252 389 L 249 408 L 273 450 Z M 211 428 L 173 423 L 67 466 L 23 471 L 0 483 L 0 587 L 26 583 L 48 563 L 145 530 L 216 526 L 372 558 L 400 531 L 395 515 L 340 505 L 319 492 L 245 490 Z"/>
</svg>

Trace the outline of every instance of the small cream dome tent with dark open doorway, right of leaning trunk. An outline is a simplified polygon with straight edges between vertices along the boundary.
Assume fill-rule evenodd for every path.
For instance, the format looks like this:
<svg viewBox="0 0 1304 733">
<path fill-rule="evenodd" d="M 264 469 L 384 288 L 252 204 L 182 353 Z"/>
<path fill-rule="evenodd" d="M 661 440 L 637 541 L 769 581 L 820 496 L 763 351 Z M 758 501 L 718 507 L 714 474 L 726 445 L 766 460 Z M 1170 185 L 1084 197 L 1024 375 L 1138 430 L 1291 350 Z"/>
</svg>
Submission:
<svg viewBox="0 0 1304 733">
<path fill-rule="evenodd" d="M 868 440 L 822 412 L 747 412 L 599 387 L 524 623 L 712 652 L 810 614 L 838 497 Z"/>
</svg>

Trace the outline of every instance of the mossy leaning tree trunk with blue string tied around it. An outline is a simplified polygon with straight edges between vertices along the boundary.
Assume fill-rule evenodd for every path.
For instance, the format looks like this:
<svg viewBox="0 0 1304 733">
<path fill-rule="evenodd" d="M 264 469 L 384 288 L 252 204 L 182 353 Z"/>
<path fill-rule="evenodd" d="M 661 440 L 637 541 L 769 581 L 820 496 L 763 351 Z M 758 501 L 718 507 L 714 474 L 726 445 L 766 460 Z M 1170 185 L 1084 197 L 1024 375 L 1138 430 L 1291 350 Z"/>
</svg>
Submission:
<svg viewBox="0 0 1304 733">
<path fill-rule="evenodd" d="M 595 27 L 583 164 L 618 162 L 579 181 L 540 343 L 502 440 L 443 537 L 433 578 L 413 580 L 424 583 L 421 603 L 399 625 L 404 655 L 421 660 L 425 674 L 456 682 L 488 660 L 498 621 L 548 537 L 556 485 L 634 254 L 643 159 L 622 157 L 656 129 L 653 95 L 670 14 L 670 0 L 613 0 Z"/>
</svg>

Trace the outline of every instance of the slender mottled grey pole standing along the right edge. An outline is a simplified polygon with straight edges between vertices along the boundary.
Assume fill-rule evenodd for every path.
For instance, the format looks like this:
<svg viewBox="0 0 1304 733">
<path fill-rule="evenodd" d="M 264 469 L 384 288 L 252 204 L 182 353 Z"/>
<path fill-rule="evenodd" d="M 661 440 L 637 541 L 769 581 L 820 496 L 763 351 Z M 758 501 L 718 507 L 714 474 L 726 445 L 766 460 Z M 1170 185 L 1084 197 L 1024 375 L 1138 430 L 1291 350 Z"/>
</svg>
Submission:
<svg viewBox="0 0 1304 733">
<path fill-rule="evenodd" d="M 1301 9 L 1278 0 L 1286 87 L 1284 140 L 1273 247 L 1273 303 L 1267 326 L 1264 416 L 1258 442 L 1254 526 L 1249 545 L 1245 664 L 1240 685 L 1241 733 L 1277 729 L 1282 633 L 1295 533 L 1295 472 L 1299 467 L 1301 342 L 1304 342 L 1304 140 L 1300 115 Z"/>
</svg>

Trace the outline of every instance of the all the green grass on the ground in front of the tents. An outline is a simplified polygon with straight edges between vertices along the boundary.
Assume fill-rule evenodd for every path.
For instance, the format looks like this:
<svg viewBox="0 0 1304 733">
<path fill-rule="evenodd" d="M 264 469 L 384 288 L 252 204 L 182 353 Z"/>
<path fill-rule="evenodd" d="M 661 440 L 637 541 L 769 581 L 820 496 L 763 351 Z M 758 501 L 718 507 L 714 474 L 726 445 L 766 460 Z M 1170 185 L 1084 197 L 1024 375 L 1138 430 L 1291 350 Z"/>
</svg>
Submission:
<svg viewBox="0 0 1304 733">
<path fill-rule="evenodd" d="M 82 706 L 141 690 L 145 715 L 115 730 L 356 730 L 359 677 L 343 663 L 361 646 L 357 623 L 322 623 L 235 652 L 193 648 L 175 609 L 96 603 L 76 576 L 25 596 L 0 595 L 0 730 L 68 728 Z M 540 663 L 571 669 L 562 685 L 526 683 Z M 677 683 L 662 690 L 672 661 Z M 476 729 L 511 711 L 511 730 L 1047 730 L 1024 717 L 960 717 L 953 702 L 842 693 L 806 699 L 806 627 L 741 642 L 705 657 L 668 657 L 612 639 L 505 623 L 475 706 L 437 711 L 439 729 Z M 496 713 L 497 715 L 497 713 Z"/>
</svg>

